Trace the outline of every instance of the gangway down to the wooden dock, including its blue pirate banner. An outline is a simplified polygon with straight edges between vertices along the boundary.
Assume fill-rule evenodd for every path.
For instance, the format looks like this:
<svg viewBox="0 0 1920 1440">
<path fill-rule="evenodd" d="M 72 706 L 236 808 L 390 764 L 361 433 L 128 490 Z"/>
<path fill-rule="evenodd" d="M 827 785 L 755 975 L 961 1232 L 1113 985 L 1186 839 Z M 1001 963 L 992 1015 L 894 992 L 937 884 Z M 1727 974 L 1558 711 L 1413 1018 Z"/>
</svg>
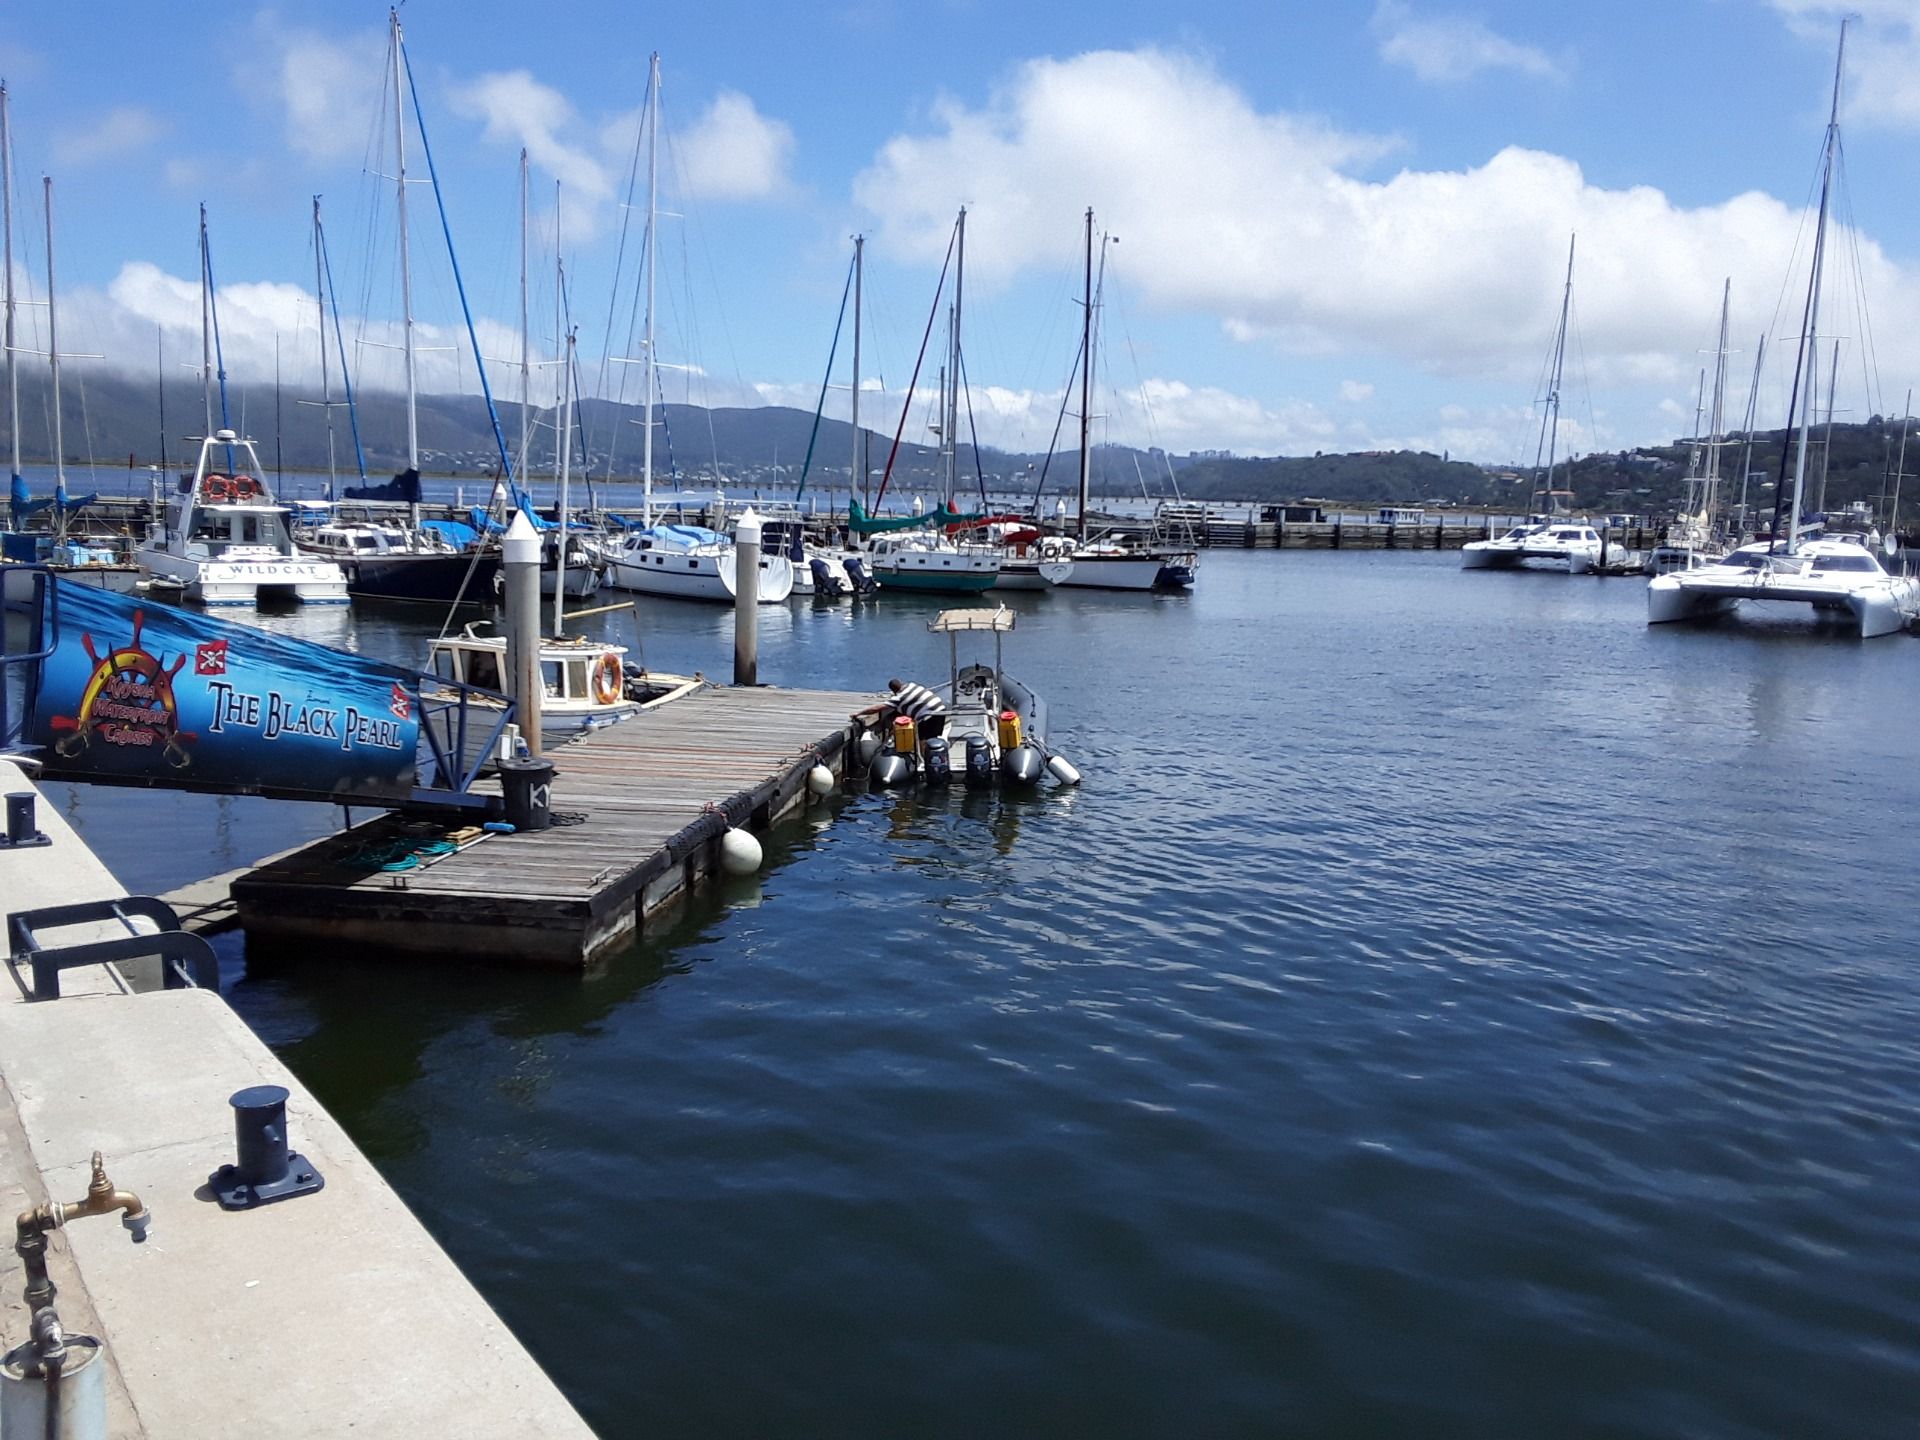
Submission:
<svg viewBox="0 0 1920 1440">
<path fill-rule="evenodd" d="M 0 564 L 0 755 L 48 780 L 490 812 L 513 703 L 478 685 Z"/>
</svg>

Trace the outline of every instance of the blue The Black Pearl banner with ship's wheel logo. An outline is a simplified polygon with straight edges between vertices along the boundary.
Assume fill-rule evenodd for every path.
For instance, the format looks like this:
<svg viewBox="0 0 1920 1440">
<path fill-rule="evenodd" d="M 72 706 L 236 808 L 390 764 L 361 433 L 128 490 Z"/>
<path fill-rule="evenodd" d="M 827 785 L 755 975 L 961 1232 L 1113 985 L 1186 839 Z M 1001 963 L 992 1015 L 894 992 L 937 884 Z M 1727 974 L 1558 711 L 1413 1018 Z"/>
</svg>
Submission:
<svg viewBox="0 0 1920 1440">
<path fill-rule="evenodd" d="M 52 655 L 27 726 L 50 778 L 315 801 L 413 793 L 413 670 L 54 584 Z"/>
</svg>

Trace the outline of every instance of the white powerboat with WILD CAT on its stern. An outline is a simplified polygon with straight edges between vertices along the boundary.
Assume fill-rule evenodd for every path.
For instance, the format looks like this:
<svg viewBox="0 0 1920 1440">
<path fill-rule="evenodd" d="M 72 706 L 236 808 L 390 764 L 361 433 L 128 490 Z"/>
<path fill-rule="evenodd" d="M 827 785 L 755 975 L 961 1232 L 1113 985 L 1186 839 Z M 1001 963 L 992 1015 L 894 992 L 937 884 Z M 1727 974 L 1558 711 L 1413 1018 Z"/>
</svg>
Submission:
<svg viewBox="0 0 1920 1440">
<path fill-rule="evenodd" d="M 142 568 L 202 605 L 346 605 L 346 572 L 294 547 L 286 507 L 263 474 L 252 440 L 232 430 L 202 438 L 194 472 L 180 478 L 140 543 Z"/>
</svg>

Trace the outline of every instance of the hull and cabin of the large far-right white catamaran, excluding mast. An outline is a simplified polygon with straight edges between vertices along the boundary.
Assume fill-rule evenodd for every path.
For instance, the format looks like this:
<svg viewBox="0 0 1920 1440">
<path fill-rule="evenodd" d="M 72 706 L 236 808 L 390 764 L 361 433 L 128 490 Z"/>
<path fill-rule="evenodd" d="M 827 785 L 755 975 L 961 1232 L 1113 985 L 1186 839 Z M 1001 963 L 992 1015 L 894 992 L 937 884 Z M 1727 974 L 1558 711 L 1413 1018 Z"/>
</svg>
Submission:
<svg viewBox="0 0 1920 1440">
<path fill-rule="evenodd" d="M 1793 601 L 1849 616 L 1860 639 L 1891 636 L 1920 614 L 1920 578 L 1889 574 L 1859 540 L 1824 536 L 1795 547 L 1741 545 L 1692 570 L 1647 582 L 1647 624 L 1730 614 L 1740 601 Z"/>
</svg>

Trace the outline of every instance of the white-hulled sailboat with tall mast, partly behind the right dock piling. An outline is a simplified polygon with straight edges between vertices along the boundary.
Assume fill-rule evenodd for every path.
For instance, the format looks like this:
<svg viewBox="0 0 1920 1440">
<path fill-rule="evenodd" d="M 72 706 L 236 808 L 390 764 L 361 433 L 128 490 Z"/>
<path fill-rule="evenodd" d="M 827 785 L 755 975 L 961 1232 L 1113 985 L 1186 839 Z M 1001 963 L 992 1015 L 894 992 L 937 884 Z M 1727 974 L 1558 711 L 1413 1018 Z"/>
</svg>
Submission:
<svg viewBox="0 0 1920 1440">
<path fill-rule="evenodd" d="M 732 536 L 693 524 L 664 524 L 653 515 L 653 392 L 657 374 L 653 334 L 655 255 L 660 215 L 660 56 L 647 63 L 647 244 L 641 257 L 645 269 L 647 338 L 645 355 L 645 419 L 641 426 L 641 524 L 622 536 L 618 545 L 603 549 L 607 578 L 616 589 L 670 599 L 733 603 L 739 578 L 739 553 Z M 720 518 L 716 524 L 720 524 Z M 783 555 L 760 555 L 756 578 L 758 601 L 778 605 L 793 593 L 793 563 Z"/>
</svg>

